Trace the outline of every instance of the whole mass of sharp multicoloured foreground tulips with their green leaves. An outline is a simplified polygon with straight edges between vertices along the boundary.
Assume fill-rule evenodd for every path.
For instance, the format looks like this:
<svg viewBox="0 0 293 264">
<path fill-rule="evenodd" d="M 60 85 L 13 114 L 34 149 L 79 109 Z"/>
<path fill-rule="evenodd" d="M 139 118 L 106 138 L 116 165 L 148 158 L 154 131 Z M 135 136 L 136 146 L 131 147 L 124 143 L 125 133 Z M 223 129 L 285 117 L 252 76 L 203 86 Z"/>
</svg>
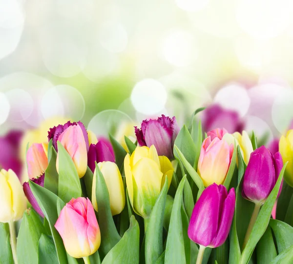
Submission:
<svg viewBox="0 0 293 264">
<path fill-rule="evenodd" d="M 204 133 L 197 112 L 124 146 L 81 122 L 28 145 L 28 182 L 0 172 L 0 263 L 293 263 L 293 131 L 271 153 L 253 132 Z"/>
</svg>

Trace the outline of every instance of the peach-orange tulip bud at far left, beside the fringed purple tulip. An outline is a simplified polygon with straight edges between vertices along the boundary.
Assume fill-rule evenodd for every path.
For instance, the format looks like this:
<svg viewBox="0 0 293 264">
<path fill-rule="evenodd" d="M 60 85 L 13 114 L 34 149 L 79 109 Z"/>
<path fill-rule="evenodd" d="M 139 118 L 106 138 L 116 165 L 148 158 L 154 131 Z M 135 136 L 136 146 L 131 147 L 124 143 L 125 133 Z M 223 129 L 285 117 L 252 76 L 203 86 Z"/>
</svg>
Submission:
<svg viewBox="0 0 293 264">
<path fill-rule="evenodd" d="M 42 175 L 47 166 L 48 158 L 42 143 L 33 143 L 26 153 L 27 173 L 29 179 Z"/>
</svg>

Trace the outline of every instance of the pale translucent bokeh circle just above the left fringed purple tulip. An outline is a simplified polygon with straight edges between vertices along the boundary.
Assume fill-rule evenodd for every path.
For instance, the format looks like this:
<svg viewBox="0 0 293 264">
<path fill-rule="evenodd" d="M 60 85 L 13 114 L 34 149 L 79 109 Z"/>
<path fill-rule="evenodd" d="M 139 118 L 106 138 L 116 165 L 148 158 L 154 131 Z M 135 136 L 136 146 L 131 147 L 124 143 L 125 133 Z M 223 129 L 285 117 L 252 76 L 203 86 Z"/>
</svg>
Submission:
<svg viewBox="0 0 293 264">
<path fill-rule="evenodd" d="M 57 85 L 43 96 L 41 111 L 44 119 L 59 116 L 79 121 L 84 116 L 84 97 L 70 85 Z"/>
</svg>

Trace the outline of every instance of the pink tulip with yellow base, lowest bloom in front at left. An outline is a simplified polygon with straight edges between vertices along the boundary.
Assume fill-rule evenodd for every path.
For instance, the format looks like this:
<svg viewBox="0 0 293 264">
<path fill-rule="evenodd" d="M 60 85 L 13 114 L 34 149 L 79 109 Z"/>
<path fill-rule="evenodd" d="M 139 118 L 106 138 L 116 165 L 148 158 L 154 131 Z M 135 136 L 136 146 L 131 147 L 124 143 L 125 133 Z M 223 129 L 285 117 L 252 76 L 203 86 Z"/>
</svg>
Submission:
<svg viewBox="0 0 293 264">
<path fill-rule="evenodd" d="M 67 253 L 73 258 L 88 257 L 101 244 L 100 228 L 88 198 L 72 198 L 66 203 L 55 228 L 63 239 Z"/>
</svg>

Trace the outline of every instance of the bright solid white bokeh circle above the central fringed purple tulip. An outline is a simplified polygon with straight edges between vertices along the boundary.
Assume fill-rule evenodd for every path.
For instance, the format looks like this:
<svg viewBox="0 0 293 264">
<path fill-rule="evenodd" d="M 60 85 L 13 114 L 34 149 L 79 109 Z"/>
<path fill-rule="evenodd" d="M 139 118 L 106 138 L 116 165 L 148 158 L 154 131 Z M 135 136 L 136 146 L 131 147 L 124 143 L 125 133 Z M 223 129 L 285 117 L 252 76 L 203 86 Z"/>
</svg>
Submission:
<svg viewBox="0 0 293 264">
<path fill-rule="evenodd" d="M 135 84 L 131 93 L 134 108 L 145 115 L 160 112 L 167 101 L 164 85 L 154 79 L 144 79 Z"/>
</svg>

